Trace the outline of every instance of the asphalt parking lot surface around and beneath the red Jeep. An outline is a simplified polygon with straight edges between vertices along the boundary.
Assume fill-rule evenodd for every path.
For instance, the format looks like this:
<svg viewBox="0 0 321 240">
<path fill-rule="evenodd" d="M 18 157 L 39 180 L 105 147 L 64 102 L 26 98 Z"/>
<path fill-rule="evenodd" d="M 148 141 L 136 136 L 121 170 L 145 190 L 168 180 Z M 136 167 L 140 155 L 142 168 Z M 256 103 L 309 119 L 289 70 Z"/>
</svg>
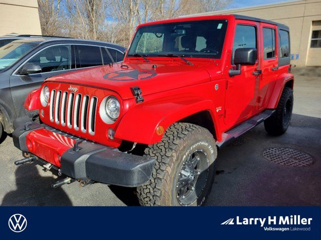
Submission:
<svg viewBox="0 0 321 240">
<path fill-rule="evenodd" d="M 270 136 L 260 124 L 219 151 L 217 176 L 205 205 L 321 205 L 319 72 L 294 69 L 294 109 L 286 133 Z M 310 158 L 306 166 L 282 165 L 263 156 L 271 147 L 299 150 Z M 138 205 L 133 188 L 101 183 L 80 187 L 73 182 L 52 189 L 54 170 L 14 164 L 22 155 L 10 136 L 0 144 L 0 154 L 2 205 Z"/>
</svg>

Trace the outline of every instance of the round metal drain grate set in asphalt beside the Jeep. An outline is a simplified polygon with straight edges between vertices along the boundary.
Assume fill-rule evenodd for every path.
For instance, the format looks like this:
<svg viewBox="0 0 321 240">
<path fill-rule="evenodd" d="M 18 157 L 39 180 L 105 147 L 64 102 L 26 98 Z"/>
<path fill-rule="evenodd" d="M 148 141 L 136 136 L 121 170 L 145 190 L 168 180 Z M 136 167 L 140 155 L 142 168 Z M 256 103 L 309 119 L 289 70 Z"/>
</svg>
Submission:
<svg viewBox="0 0 321 240">
<path fill-rule="evenodd" d="M 263 156 L 271 162 L 284 166 L 308 166 L 313 158 L 303 152 L 286 147 L 272 147 L 263 151 Z"/>
</svg>

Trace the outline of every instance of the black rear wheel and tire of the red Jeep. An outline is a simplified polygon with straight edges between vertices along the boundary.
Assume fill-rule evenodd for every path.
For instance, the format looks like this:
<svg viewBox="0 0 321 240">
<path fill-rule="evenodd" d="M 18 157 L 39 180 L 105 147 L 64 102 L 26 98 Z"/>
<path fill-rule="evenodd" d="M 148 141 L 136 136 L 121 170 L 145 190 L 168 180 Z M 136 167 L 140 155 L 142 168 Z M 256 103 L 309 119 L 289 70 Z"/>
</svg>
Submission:
<svg viewBox="0 0 321 240">
<path fill-rule="evenodd" d="M 284 87 L 275 112 L 264 121 L 265 130 L 274 136 L 283 134 L 291 121 L 293 109 L 293 90 Z"/>
</svg>

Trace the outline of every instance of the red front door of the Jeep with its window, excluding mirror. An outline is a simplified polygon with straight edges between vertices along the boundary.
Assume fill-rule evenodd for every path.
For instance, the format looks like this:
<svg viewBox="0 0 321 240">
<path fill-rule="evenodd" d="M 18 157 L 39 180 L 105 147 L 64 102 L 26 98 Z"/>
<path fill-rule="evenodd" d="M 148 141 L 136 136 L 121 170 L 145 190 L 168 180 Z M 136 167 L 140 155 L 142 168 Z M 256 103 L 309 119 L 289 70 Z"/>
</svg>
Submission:
<svg viewBox="0 0 321 240">
<path fill-rule="evenodd" d="M 236 21 L 232 64 L 234 52 L 237 48 L 258 48 L 258 30 L 259 23 L 246 20 Z M 240 75 L 228 76 L 224 118 L 227 128 L 257 113 L 258 70 L 259 60 L 257 58 L 255 65 L 242 65 Z"/>
</svg>

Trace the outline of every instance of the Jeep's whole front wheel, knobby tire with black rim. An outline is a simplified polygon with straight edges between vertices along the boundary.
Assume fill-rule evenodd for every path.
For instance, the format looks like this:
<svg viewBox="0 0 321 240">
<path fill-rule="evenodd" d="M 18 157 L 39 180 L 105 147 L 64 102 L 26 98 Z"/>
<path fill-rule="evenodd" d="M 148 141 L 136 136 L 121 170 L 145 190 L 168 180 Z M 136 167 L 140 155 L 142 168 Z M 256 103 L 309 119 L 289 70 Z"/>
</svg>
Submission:
<svg viewBox="0 0 321 240">
<path fill-rule="evenodd" d="M 145 155 L 156 159 L 151 179 L 137 187 L 141 205 L 202 205 L 215 176 L 213 135 L 190 123 L 174 123 Z"/>
</svg>

